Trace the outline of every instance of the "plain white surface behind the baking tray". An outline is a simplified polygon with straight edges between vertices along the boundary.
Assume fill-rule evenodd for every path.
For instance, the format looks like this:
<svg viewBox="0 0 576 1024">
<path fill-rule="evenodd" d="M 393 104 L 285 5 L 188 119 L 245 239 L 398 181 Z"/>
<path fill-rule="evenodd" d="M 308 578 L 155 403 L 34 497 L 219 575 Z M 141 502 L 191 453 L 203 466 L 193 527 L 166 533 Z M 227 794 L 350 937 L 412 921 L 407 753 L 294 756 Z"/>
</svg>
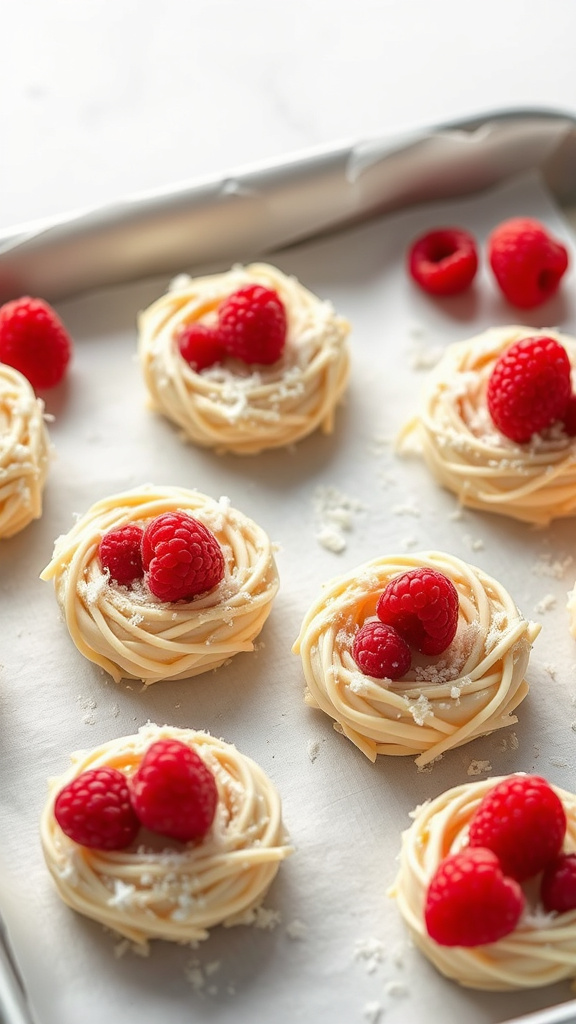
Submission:
<svg viewBox="0 0 576 1024">
<path fill-rule="evenodd" d="M 571 110 L 575 36 L 570 0 L 6 4 L 0 226 L 487 110 Z"/>
</svg>

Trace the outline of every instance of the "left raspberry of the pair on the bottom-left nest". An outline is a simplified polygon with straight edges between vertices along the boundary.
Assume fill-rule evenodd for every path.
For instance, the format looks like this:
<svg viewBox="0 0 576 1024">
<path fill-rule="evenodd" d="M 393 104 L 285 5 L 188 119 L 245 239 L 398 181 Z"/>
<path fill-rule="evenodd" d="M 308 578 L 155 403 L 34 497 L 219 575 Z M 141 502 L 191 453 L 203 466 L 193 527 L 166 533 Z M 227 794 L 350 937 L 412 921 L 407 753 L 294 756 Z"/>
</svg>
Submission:
<svg viewBox="0 0 576 1024">
<path fill-rule="evenodd" d="M 126 776 L 116 768 L 89 768 L 58 793 L 54 817 L 80 846 L 123 850 L 139 827 Z"/>
</svg>

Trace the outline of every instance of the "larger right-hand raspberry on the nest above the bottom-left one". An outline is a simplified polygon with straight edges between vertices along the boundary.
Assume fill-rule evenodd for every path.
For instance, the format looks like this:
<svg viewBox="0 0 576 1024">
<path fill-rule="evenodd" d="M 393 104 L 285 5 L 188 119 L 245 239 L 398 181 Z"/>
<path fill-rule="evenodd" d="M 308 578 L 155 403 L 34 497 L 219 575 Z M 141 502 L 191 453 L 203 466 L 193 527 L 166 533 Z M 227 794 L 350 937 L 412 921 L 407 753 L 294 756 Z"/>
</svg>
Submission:
<svg viewBox="0 0 576 1024">
<path fill-rule="evenodd" d="M 148 585 L 161 601 L 196 597 L 216 587 L 224 574 L 216 538 L 184 512 L 164 512 L 149 523 L 142 562 Z"/>
</svg>

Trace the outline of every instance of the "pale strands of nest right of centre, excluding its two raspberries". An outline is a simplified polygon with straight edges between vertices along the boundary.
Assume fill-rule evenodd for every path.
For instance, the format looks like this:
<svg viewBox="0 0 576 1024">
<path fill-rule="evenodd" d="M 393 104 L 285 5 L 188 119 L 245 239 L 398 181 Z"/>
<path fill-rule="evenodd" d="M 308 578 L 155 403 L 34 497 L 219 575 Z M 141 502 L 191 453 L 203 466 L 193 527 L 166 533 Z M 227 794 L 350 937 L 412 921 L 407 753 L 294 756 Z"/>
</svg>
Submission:
<svg viewBox="0 0 576 1024">
<path fill-rule="evenodd" d="M 354 636 L 386 584 L 427 565 L 458 591 L 458 629 L 436 657 L 414 654 L 393 682 L 364 675 L 352 655 Z M 370 758 L 418 754 L 423 766 L 446 751 L 517 721 L 528 692 L 525 673 L 540 627 L 527 622 L 504 588 L 481 569 L 440 552 L 390 555 L 327 583 L 306 614 L 293 650 L 302 659 L 305 701 Z"/>
</svg>

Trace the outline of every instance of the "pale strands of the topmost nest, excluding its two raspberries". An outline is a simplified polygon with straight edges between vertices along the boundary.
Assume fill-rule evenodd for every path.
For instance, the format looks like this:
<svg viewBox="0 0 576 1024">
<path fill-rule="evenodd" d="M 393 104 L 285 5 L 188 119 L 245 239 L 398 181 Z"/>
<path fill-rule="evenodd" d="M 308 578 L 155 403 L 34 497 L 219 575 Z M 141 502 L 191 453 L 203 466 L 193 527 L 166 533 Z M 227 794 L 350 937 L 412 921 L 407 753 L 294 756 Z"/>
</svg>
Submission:
<svg viewBox="0 0 576 1024">
<path fill-rule="evenodd" d="M 223 299 L 248 284 L 278 293 L 286 308 L 284 352 L 272 366 L 227 359 L 197 373 L 180 355 L 178 330 L 209 323 Z M 348 323 L 329 302 L 274 266 L 253 263 L 206 278 L 178 278 L 139 316 L 138 352 L 152 409 L 184 439 L 218 453 L 253 455 L 330 433 L 349 374 Z"/>
</svg>

